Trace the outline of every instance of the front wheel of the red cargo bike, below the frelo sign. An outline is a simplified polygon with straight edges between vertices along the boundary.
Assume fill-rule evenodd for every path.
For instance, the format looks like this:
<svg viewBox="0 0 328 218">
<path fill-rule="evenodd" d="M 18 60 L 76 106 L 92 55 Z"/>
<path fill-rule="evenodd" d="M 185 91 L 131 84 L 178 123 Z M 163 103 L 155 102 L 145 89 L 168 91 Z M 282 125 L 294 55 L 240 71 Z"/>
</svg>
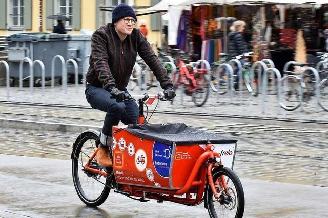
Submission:
<svg viewBox="0 0 328 218">
<path fill-rule="evenodd" d="M 220 199 L 214 197 L 210 185 L 207 184 L 204 203 L 210 217 L 242 217 L 245 199 L 238 176 L 231 169 L 221 167 L 212 173 L 212 178 Z"/>
</svg>

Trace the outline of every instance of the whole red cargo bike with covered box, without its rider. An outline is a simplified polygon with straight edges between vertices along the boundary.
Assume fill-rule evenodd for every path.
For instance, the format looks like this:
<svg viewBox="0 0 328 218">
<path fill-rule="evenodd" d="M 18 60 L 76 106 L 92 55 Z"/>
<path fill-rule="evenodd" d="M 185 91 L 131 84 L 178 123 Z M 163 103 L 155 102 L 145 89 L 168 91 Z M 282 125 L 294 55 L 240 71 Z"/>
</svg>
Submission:
<svg viewBox="0 0 328 218">
<path fill-rule="evenodd" d="M 71 158 L 81 201 L 99 206 L 113 189 L 141 202 L 155 199 L 188 206 L 203 202 L 210 217 L 242 217 L 243 188 L 232 171 L 237 140 L 183 123 L 145 124 L 144 105 L 155 99 L 165 100 L 162 93 L 135 100 L 139 125 L 113 127 L 113 169 L 97 164 L 98 131 L 78 136 Z"/>
</svg>

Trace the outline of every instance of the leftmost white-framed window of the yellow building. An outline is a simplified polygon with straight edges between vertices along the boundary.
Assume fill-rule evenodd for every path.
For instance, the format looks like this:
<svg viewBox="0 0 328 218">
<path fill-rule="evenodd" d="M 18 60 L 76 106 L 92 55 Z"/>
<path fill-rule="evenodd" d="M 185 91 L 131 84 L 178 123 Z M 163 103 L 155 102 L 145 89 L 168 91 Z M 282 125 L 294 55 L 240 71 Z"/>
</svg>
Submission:
<svg viewBox="0 0 328 218">
<path fill-rule="evenodd" d="M 9 1 L 9 28 L 24 29 L 24 0 Z"/>
</svg>

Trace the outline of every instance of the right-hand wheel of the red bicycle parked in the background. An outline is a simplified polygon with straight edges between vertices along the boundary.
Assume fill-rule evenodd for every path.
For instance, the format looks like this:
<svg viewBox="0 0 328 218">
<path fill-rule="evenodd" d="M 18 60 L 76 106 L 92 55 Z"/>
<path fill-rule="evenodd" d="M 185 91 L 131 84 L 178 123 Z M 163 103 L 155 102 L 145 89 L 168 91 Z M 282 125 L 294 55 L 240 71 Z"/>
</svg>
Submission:
<svg viewBox="0 0 328 218">
<path fill-rule="evenodd" d="M 198 72 L 197 74 L 195 74 L 195 80 L 196 80 L 196 83 L 198 85 L 198 90 L 192 92 L 192 100 L 194 102 L 194 104 L 198 107 L 201 107 L 203 106 L 208 97 L 209 97 L 209 93 L 210 93 L 210 89 L 209 89 L 209 86 L 210 86 L 210 78 L 209 78 L 209 75 L 208 74 L 203 74 L 203 73 L 200 73 Z M 203 83 L 200 83 L 200 80 L 201 79 L 204 79 L 204 82 Z M 200 88 L 199 88 L 200 87 Z M 203 96 L 201 96 L 201 98 L 198 98 L 199 94 L 201 93 L 204 93 Z M 200 102 L 197 102 L 197 99 L 202 99 Z"/>
</svg>

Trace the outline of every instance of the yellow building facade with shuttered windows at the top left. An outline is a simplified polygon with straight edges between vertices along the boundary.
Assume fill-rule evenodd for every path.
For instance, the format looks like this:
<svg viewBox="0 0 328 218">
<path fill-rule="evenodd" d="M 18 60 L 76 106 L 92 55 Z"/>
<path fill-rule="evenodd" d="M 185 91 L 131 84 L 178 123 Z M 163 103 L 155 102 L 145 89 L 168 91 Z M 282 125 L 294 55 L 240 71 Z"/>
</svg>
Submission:
<svg viewBox="0 0 328 218">
<path fill-rule="evenodd" d="M 158 2 L 159 0 L 0 0 L 0 36 L 52 32 L 57 21 L 46 17 L 54 14 L 71 18 L 64 23 L 68 34 L 92 33 L 112 19 L 111 12 L 100 11 L 99 6 L 115 7 L 126 3 L 137 8 L 150 7 Z M 148 21 L 148 40 L 160 45 L 159 18 L 158 14 L 138 16 L 138 20 Z M 139 23 L 136 27 L 139 27 Z"/>
</svg>

